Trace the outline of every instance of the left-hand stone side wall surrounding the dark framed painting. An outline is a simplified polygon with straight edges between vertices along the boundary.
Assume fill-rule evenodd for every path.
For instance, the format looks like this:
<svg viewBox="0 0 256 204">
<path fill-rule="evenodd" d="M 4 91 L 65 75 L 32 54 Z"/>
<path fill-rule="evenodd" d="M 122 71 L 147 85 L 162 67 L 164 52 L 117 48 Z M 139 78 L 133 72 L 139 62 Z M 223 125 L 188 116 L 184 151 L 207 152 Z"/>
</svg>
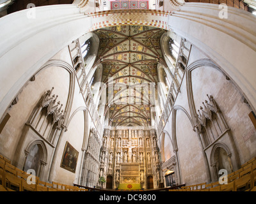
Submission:
<svg viewBox="0 0 256 204">
<path fill-rule="evenodd" d="M 31 147 L 38 144 L 38 147 L 42 146 L 43 156 L 40 168 L 36 169 L 36 175 L 41 180 L 68 185 L 79 183 L 81 179 L 81 164 L 88 143 L 88 129 L 95 128 L 72 70 L 68 47 L 65 47 L 19 91 L 15 104 L 6 110 L 10 119 L 0 135 L 0 152 L 10 159 L 13 165 L 24 169 L 29 153 L 32 152 Z M 40 103 L 47 91 L 48 98 L 44 103 Z M 51 101 L 49 105 L 47 101 Z M 44 118 L 39 113 L 44 106 L 50 112 L 47 116 L 49 118 L 51 115 L 63 115 L 60 126 L 56 128 L 56 136 L 51 140 L 49 134 L 45 133 L 47 131 L 44 131 L 45 126 L 50 127 L 49 124 L 40 128 L 43 122 L 38 122 Z M 57 107 L 56 111 L 54 107 Z M 38 116 L 35 116 L 36 114 Z M 74 171 L 61 167 L 67 142 L 77 151 Z"/>
</svg>

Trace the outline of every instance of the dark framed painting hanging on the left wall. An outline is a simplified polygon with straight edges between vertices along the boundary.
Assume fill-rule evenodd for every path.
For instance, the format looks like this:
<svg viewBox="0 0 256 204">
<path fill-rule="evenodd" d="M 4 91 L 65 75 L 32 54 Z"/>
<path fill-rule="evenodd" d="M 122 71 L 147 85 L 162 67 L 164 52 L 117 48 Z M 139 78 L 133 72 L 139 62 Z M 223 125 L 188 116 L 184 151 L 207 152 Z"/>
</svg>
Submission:
<svg viewBox="0 0 256 204">
<path fill-rule="evenodd" d="M 61 168 L 76 173 L 76 164 L 79 152 L 66 142 L 63 156 L 61 159 Z"/>
</svg>

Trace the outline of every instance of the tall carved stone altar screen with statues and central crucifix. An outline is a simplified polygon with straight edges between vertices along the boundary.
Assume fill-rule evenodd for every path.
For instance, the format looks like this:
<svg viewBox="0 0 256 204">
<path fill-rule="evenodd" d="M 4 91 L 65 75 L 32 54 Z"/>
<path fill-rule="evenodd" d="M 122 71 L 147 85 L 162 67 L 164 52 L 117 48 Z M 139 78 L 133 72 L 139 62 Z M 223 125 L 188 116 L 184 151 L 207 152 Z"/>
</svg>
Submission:
<svg viewBox="0 0 256 204">
<path fill-rule="evenodd" d="M 154 129 L 105 129 L 100 152 L 100 176 L 113 176 L 113 188 L 120 184 L 140 184 L 147 188 L 152 176 L 154 187 L 160 182 L 159 150 Z"/>
</svg>

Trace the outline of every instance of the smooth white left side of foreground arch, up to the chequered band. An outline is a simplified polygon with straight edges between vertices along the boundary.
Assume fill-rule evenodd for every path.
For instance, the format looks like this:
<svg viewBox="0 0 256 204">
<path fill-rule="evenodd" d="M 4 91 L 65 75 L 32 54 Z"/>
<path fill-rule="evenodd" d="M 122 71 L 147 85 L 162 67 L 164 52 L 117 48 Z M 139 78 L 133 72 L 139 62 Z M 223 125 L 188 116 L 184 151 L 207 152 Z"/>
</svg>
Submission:
<svg viewBox="0 0 256 204">
<path fill-rule="evenodd" d="M 33 19 L 27 18 L 27 12 L 21 10 L 1 18 L 4 40 L 0 50 L 0 100 L 3 102 L 3 98 L 8 98 L 8 102 L 0 108 L 1 115 L 20 87 L 29 80 L 31 73 L 38 71 L 51 57 L 90 28 L 90 19 L 84 20 L 84 15 L 75 5 L 40 6 L 36 8 L 36 18 Z M 83 25 L 77 26 L 77 22 Z M 62 41 L 64 38 L 65 42 Z M 11 60 L 14 56 L 15 60 Z M 15 85 L 12 87 L 8 83 Z"/>
</svg>

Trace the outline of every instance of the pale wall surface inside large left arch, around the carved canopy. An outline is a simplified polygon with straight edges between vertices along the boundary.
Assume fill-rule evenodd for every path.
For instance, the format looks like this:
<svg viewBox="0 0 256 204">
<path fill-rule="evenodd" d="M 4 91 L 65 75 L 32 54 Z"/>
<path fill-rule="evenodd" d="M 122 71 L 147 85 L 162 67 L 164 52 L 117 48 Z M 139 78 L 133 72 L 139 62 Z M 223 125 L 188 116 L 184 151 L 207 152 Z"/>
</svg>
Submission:
<svg viewBox="0 0 256 204">
<path fill-rule="evenodd" d="M 58 94 L 56 102 L 63 103 L 63 109 L 67 103 L 69 73 L 60 67 L 49 67 L 42 69 L 36 75 L 34 82 L 28 82 L 18 95 L 19 101 L 12 106 L 10 111 L 10 119 L 4 126 L 0 135 L 0 153 L 9 159 L 13 159 L 13 154 L 22 134 L 22 128 L 28 121 L 33 109 L 38 103 L 42 95 L 52 87 L 52 94 Z"/>
</svg>

